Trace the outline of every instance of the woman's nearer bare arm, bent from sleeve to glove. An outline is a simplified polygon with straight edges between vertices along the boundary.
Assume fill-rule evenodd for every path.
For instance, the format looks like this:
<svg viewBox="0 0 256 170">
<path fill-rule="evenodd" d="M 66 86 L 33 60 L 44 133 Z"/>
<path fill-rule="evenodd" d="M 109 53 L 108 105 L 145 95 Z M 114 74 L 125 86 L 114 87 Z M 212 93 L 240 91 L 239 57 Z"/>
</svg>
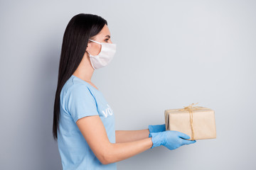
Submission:
<svg viewBox="0 0 256 170">
<path fill-rule="evenodd" d="M 76 122 L 92 152 L 102 164 L 119 162 L 152 147 L 151 137 L 132 142 L 111 143 L 99 115 L 86 116 Z M 146 131 L 146 130 L 145 130 Z M 146 132 L 142 132 L 146 137 Z M 134 138 L 133 138 L 134 139 Z"/>
</svg>

